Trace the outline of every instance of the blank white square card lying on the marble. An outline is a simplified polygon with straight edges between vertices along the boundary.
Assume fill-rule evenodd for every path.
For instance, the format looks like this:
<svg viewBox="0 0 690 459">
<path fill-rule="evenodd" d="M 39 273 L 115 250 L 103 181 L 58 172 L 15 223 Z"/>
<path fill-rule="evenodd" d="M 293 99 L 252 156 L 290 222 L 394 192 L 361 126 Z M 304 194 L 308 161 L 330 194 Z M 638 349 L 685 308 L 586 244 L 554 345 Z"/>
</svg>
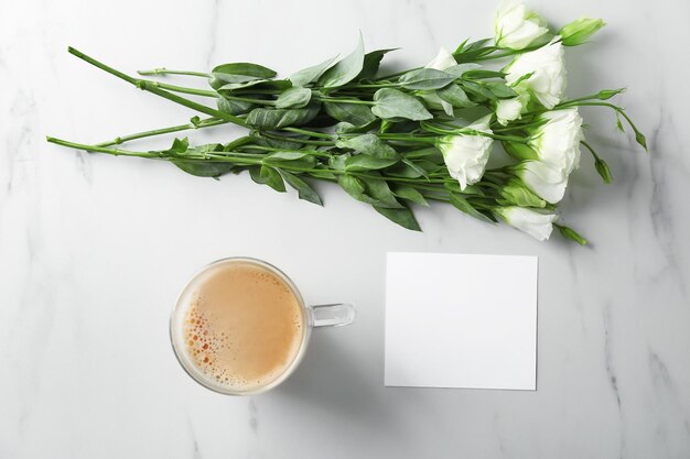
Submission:
<svg viewBox="0 0 690 459">
<path fill-rule="evenodd" d="M 537 389 L 537 258 L 388 253 L 387 386 Z"/>
</svg>

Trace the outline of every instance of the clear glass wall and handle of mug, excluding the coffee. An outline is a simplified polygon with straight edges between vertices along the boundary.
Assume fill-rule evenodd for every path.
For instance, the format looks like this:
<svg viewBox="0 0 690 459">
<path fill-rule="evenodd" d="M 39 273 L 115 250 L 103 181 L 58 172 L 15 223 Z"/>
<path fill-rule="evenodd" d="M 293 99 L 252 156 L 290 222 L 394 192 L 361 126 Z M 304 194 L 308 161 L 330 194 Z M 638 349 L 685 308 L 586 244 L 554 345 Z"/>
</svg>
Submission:
<svg viewBox="0 0 690 459">
<path fill-rule="evenodd" d="M 256 267 L 267 270 L 278 276 L 290 288 L 301 312 L 302 332 L 299 348 L 294 353 L 292 361 L 283 367 L 280 374 L 267 382 L 265 385 L 248 387 L 246 390 L 229 387 L 228 385 L 214 379 L 212 375 L 204 373 L 204 371 L 200 369 L 198 364 L 195 363 L 194 358 L 190 356 L 190 352 L 187 351 L 188 339 L 185 336 L 184 326 L 185 320 L 187 320 L 187 314 L 193 304 L 192 297 L 198 295 L 196 292 L 203 286 L 203 280 L 207 277 L 213 270 L 233 264 L 254 265 Z M 246 256 L 226 258 L 203 267 L 190 281 L 187 281 L 185 286 L 182 288 L 170 318 L 170 340 L 175 357 L 184 371 L 204 387 L 226 395 L 255 395 L 278 386 L 294 372 L 304 357 L 312 329 L 322 327 L 339 327 L 352 324 L 355 319 L 355 308 L 345 303 L 315 306 L 306 305 L 302 294 L 290 277 L 270 263 Z"/>
</svg>

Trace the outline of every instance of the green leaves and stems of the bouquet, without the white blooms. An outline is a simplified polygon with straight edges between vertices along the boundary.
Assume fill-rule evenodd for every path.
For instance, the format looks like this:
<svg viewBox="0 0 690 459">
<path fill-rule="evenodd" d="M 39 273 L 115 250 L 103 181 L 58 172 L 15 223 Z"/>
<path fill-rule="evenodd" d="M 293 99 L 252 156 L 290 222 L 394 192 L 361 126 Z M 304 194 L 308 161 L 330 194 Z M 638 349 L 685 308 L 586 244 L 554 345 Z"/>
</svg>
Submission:
<svg viewBox="0 0 690 459">
<path fill-rule="evenodd" d="M 140 72 L 204 77 L 212 90 L 130 77 L 69 48 L 72 54 L 140 89 L 211 118 L 194 117 L 188 124 L 97 145 L 50 141 L 94 152 L 165 160 L 202 177 L 217 178 L 248 171 L 258 184 L 281 193 L 287 186 L 292 187 L 301 199 L 317 205 L 322 200 L 312 181 L 333 182 L 353 198 L 411 230 L 420 230 L 411 205 L 428 206 L 430 200 L 449 203 L 488 222 L 497 221 L 494 209 L 503 206 L 554 210 L 516 185 L 509 168 L 488 170 L 479 183 L 461 190 L 435 146 L 440 133 L 459 128 L 457 120 L 464 123 L 476 119 L 494 111 L 498 100 L 516 96 L 503 73 L 479 64 L 500 51 L 487 43 L 483 40 L 461 44 L 453 54 L 456 65 L 444 70 L 414 68 L 384 77 L 379 75 L 380 63 L 395 50 L 365 53 L 362 37 L 346 57 L 330 58 L 288 78 L 278 78 L 277 72 L 252 63 L 224 64 L 207 74 Z M 505 53 L 497 57 L 505 57 Z M 180 94 L 215 99 L 215 108 Z M 619 114 L 625 117 L 622 110 Z M 186 139 L 175 139 L 170 149 L 154 152 L 132 152 L 117 146 L 143 136 L 226 122 L 245 127 L 249 132 L 226 144 L 193 146 Z M 533 117 L 522 122 L 527 127 L 533 123 Z M 496 128 L 500 130 L 499 125 Z M 518 122 L 513 128 L 514 135 L 527 135 L 520 129 Z M 510 139 L 504 142 L 508 152 L 520 147 Z M 608 181 L 611 174 L 605 163 L 593 154 L 597 171 Z"/>
</svg>

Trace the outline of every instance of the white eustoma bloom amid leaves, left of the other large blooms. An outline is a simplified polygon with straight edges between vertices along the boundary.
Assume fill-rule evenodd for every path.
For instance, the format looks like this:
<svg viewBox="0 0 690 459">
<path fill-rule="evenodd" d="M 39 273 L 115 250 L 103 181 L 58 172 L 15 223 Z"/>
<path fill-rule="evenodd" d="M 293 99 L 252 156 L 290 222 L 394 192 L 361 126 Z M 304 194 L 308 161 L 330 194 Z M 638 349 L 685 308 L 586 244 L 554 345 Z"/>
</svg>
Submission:
<svg viewBox="0 0 690 459">
<path fill-rule="evenodd" d="M 492 133 L 488 123 L 492 116 L 486 116 L 466 129 Z M 443 161 L 451 177 L 460 183 L 460 189 L 475 184 L 482 179 L 488 155 L 492 150 L 493 139 L 484 135 L 455 134 L 439 138 L 436 146 L 443 153 Z"/>
</svg>

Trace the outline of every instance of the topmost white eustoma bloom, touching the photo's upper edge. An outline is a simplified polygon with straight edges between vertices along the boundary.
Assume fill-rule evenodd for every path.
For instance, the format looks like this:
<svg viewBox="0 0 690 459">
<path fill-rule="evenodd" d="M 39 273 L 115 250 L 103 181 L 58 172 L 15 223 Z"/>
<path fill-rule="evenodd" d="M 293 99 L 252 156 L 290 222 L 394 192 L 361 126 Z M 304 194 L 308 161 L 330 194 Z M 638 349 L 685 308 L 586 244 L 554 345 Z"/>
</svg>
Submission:
<svg viewBox="0 0 690 459">
<path fill-rule="evenodd" d="M 524 50 L 549 33 L 546 21 L 519 0 L 504 0 L 500 3 L 494 30 L 496 46 L 508 50 Z"/>
</svg>

